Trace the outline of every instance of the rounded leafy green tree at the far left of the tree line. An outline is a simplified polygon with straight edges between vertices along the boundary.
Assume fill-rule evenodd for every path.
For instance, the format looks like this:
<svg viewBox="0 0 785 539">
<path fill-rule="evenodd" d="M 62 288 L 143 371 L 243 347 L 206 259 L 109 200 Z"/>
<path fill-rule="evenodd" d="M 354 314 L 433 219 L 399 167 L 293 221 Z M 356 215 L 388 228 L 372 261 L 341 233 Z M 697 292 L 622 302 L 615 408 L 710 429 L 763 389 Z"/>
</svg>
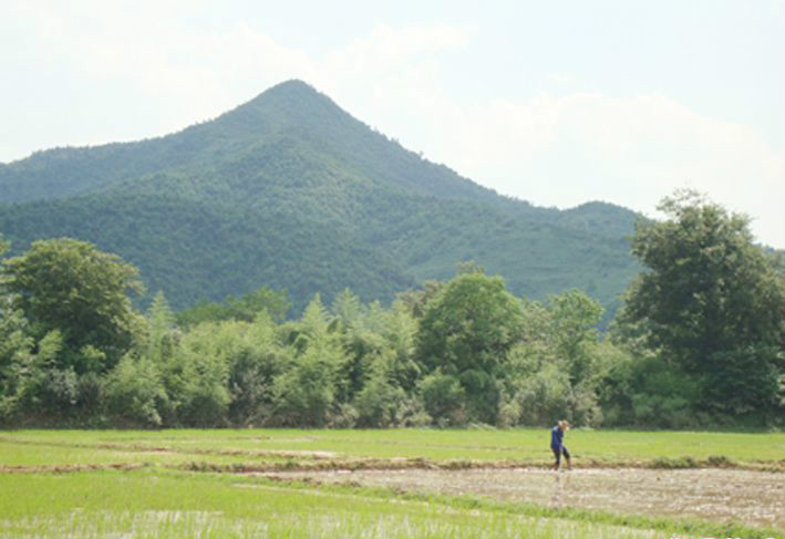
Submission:
<svg viewBox="0 0 785 539">
<path fill-rule="evenodd" d="M 4 260 L 2 273 L 33 333 L 61 333 L 61 360 L 78 374 L 107 371 L 142 326 L 127 296 L 142 291 L 136 268 L 89 242 L 35 241 L 25 253 Z"/>
</svg>

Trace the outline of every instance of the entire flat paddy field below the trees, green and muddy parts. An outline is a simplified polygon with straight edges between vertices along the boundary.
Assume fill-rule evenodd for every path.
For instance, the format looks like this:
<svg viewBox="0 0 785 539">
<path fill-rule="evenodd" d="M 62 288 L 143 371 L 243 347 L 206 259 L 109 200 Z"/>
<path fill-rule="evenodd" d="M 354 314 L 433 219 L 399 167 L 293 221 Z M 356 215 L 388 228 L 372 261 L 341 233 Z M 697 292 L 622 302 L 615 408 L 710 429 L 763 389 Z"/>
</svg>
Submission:
<svg viewBox="0 0 785 539">
<path fill-rule="evenodd" d="M 785 434 L 0 432 L 0 538 L 777 538 Z"/>
</svg>

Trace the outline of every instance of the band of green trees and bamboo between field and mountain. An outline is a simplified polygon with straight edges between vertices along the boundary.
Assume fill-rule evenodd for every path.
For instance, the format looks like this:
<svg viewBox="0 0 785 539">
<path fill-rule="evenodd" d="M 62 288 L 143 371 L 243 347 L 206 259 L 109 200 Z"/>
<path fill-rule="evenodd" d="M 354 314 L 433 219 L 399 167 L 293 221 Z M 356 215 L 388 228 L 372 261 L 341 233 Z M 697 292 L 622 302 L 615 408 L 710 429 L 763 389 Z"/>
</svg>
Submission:
<svg viewBox="0 0 785 539">
<path fill-rule="evenodd" d="M 785 423 L 785 273 L 748 219 L 663 200 L 610 328 L 579 290 L 534 301 L 472 262 L 392 304 L 345 290 L 287 319 L 261 288 L 146 312 L 138 271 L 71 238 L 2 260 L 6 426 L 701 427 Z M 4 250 L 0 241 L 0 251 Z"/>
</svg>

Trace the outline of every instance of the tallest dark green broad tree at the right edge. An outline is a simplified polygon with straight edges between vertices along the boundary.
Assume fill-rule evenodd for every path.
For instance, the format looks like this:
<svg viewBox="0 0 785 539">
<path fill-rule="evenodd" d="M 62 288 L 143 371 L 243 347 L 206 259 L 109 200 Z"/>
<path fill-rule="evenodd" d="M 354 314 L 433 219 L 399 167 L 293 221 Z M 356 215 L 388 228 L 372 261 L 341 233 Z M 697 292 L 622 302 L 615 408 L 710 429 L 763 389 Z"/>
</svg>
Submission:
<svg viewBox="0 0 785 539">
<path fill-rule="evenodd" d="M 771 415 L 785 372 L 785 277 L 755 246 L 744 215 L 690 191 L 664 198 L 668 219 L 641 222 L 632 251 L 648 268 L 627 293 L 622 321 L 695 376 L 703 406 Z"/>
</svg>

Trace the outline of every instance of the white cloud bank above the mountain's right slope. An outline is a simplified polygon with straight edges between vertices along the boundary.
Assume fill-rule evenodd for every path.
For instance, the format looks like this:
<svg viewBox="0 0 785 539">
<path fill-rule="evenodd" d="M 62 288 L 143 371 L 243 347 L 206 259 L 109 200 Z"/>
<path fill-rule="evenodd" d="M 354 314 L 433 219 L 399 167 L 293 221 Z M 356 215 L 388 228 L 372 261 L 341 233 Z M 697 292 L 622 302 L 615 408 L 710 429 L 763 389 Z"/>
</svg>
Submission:
<svg viewBox="0 0 785 539">
<path fill-rule="evenodd" d="M 385 99 L 401 91 L 390 86 Z M 785 246 L 785 156 L 747 126 L 661 94 L 541 94 L 465 107 L 435 87 L 420 95 L 427 99 L 404 94 L 405 106 L 380 124 L 403 131 L 426 118 L 404 144 L 500 193 L 557 207 L 607 200 L 654 215 L 662 197 L 691 187 L 753 217 L 763 241 Z"/>
</svg>

